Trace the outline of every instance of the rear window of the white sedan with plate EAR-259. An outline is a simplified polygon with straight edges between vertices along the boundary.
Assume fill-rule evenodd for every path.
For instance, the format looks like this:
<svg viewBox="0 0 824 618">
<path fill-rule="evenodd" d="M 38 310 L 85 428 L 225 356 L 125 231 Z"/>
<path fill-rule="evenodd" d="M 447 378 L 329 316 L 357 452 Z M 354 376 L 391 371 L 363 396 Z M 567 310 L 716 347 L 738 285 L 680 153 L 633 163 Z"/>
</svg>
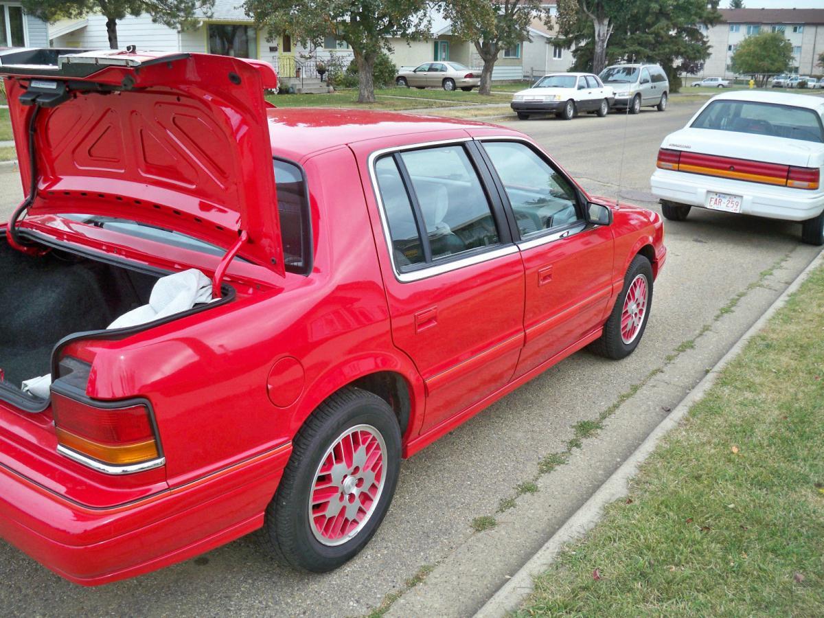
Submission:
<svg viewBox="0 0 824 618">
<path fill-rule="evenodd" d="M 713 101 L 695 119 L 692 127 L 824 143 L 822 120 L 816 111 L 791 105 Z"/>
</svg>

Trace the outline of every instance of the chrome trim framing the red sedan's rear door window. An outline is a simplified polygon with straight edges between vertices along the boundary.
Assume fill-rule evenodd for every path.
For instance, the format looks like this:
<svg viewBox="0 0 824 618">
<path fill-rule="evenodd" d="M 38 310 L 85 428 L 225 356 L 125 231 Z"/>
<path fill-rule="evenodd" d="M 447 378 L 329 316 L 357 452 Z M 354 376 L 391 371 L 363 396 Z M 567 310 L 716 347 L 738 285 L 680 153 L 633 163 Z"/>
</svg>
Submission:
<svg viewBox="0 0 824 618">
<path fill-rule="evenodd" d="M 505 255 L 513 255 L 517 253 L 518 248 L 515 244 L 499 245 L 497 246 L 497 248 L 490 248 L 489 250 L 484 250 L 483 252 L 476 253 L 475 255 L 468 255 L 466 258 L 462 258 L 461 260 L 448 261 L 443 264 L 432 264 L 427 266 L 426 268 L 411 270 L 406 273 L 401 273 L 400 269 L 398 268 L 398 265 L 396 265 L 395 263 L 395 251 L 393 250 L 392 246 L 392 236 L 389 232 L 389 219 L 386 217 L 386 211 L 384 209 L 383 199 L 381 197 L 381 189 L 377 184 L 375 162 L 379 157 L 383 157 L 387 154 L 391 154 L 394 152 L 404 152 L 405 150 L 419 150 L 425 147 L 437 147 L 447 145 L 457 146 L 471 141 L 473 141 L 473 138 L 471 137 L 442 139 L 434 142 L 420 142 L 406 144 L 404 146 L 392 146 L 388 148 L 382 148 L 381 150 L 376 150 L 375 152 L 369 154 L 369 179 L 372 180 L 372 190 L 375 193 L 377 210 L 381 216 L 381 227 L 383 228 L 383 237 L 386 241 L 386 248 L 389 252 L 389 260 L 392 264 L 392 272 L 395 274 L 395 278 L 398 281 L 400 281 L 400 283 L 411 283 L 413 281 L 420 281 L 421 279 L 428 279 L 429 277 L 434 277 L 438 274 L 448 273 L 452 270 L 466 268 L 467 266 L 481 264 L 482 262 L 496 260 L 500 257 L 504 257 Z M 478 181 L 481 182 L 480 177 L 478 178 Z M 489 213 L 492 213 L 491 208 L 489 209 Z M 495 246 L 493 245 L 492 247 Z"/>
</svg>

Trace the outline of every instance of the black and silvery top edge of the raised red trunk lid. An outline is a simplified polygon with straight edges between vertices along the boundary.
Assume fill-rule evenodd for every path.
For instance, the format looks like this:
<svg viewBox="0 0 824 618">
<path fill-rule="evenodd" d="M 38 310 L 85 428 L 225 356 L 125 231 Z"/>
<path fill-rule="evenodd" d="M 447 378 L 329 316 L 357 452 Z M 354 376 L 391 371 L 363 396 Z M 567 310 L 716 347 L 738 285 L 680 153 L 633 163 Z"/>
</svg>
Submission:
<svg viewBox="0 0 824 618">
<path fill-rule="evenodd" d="M 185 52 L 13 48 L 0 51 L 0 75 L 87 79 L 104 68 L 135 69 L 185 60 L 190 56 Z"/>
</svg>

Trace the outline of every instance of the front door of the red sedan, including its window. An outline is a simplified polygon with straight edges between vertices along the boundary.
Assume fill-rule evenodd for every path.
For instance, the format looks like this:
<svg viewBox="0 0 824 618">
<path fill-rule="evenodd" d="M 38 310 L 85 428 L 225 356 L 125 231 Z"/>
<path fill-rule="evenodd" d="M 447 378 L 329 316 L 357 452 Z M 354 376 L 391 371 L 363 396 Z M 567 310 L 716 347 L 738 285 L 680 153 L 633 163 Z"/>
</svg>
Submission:
<svg viewBox="0 0 824 618">
<path fill-rule="evenodd" d="M 612 293 L 612 230 L 583 221 L 573 183 L 536 148 L 503 140 L 483 147 L 521 236 L 526 339 L 518 377 L 602 325 Z"/>
</svg>

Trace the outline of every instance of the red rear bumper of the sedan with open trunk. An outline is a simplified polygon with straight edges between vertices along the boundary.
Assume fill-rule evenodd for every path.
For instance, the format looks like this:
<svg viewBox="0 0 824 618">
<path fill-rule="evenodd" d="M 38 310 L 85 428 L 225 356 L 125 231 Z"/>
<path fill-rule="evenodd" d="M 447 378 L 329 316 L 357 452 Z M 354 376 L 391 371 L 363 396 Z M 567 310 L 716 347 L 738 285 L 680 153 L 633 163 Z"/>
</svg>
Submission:
<svg viewBox="0 0 824 618">
<path fill-rule="evenodd" d="M 291 452 L 289 443 L 190 485 L 103 509 L 0 466 L 0 536 L 74 583 L 147 573 L 260 527 Z"/>
</svg>

